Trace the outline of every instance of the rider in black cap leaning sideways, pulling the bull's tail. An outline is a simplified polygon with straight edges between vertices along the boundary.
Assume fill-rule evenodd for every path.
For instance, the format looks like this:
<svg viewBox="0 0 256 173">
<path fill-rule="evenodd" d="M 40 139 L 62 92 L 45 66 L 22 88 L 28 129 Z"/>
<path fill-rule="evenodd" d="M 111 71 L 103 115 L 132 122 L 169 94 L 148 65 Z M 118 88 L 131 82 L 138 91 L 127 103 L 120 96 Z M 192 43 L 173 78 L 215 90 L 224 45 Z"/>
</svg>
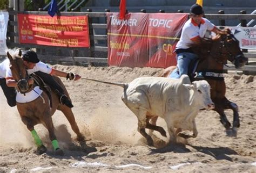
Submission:
<svg viewBox="0 0 256 173">
<path fill-rule="evenodd" d="M 64 90 L 62 86 L 60 86 L 52 77 L 52 75 L 59 76 L 59 77 L 66 77 L 68 80 L 74 80 L 77 81 L 81 78 L 78 74 L 73 73 L 66 73 L 64 71 L 57 70 L 55 68 L 52 68 L 48 66 L 47 64 L 39 61 L 36 52 L 33 51 L 25 51 L 22 54 L 23 63 L 25 68 L 28 71 L 28 74 L 35 73 L 39 77 L 42 78 L 42 80 L 48 84 L 53 92 L 57 94 L 57 96 L 60 99 L 60 103 L 68 106 L 73 107 L 71 101 L 69 98 L 64 95 Z M 29 79 L 29 84 L 33 84 L 33 79 Z M 16 87 L 17 82 L 12 78 L 11 70 L 8 69 L 6 71 L 6 84 L 9 87 Z"/>
</svg>

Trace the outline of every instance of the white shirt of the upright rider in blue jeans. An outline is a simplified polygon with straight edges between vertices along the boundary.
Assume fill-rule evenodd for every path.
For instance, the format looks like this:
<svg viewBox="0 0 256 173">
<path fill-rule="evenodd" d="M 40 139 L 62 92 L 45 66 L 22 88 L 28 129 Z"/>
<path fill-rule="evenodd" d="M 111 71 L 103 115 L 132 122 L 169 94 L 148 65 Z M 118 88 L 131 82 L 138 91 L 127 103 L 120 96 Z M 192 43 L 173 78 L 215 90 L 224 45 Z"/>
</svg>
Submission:
<svg viewBox="0 0 256 173">
<path fill-rule="evenodd" d="M 191 39 L 200 37 L 204 38 L 206 31 L 212 31 L 215 26 L 206 18 L 201 19 L 200 27 L 192 18 L 186 21 L 181 31 L 181 37 L 176 45 L 176 49 L 187 49 L 189 45 L 193 44 Z"/>
</svg>

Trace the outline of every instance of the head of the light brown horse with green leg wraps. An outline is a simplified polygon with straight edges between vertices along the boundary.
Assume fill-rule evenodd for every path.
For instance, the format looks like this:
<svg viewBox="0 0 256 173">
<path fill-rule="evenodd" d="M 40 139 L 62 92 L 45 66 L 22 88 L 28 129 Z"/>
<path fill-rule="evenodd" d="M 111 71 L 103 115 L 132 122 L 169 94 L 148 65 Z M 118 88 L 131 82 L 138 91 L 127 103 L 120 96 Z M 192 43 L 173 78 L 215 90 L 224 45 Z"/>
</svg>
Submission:
<svg viewBox="0 0 256 173">
<path fill-rule="evenodd" d="M 8 59 L 10 60 L 10 69 L 12 77 L 17 81 L 18 89 L 21 93 L 29 90 L 28 74 L 22 60 L 21 49 L 16 49 L 7 52 Z"/>
</svg>

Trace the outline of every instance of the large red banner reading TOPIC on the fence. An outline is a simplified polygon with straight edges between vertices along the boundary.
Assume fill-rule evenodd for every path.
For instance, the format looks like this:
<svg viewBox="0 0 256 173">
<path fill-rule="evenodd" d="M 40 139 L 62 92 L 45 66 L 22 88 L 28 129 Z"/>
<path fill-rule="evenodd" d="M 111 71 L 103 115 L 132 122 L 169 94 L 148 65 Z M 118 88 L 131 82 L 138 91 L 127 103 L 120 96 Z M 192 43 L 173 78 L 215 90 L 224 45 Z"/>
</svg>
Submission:
<svg viewBox="0 0 256 173">
<path fill-rule="evenodd" d="M 107 13 L 108 63 L 119 67 L 176 65 L 173 52 L 188 18 L 184 13 Z"/>
</svg>

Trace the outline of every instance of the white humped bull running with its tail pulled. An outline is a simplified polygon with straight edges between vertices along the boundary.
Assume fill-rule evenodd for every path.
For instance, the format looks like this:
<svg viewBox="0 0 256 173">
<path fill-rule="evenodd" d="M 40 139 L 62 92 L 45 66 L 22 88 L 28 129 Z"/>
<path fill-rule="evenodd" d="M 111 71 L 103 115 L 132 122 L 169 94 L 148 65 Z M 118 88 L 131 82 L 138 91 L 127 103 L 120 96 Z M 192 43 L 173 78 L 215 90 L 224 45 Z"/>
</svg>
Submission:
<svg viewBox="0 0 256 173">
<path fill-rule="evenodd" d="M 86 80 L 103 82 L 84 78 Z M 214 109 L 210 96 L 210 85 L 206 81 L 190 82 L 187 75 L 179 80 L 165 77 L 140 77 L 129 84 L 103 82 L 122 86 L 122 100 L 138 118 L 138 132 L 150 146 L 153 140 L 145 128 L 153 129 L 166 136 L 162 127 L 149 123 L 151 118 L 164 118 L 170 134 L 170 142 L 176 142 L 181 129 L 193 131 L 193 135 L 178 135 L 184 138 L 196 138 L 198 131 L 195 118 L 200 109 Z M 174 132 L 174 128 L 177 131 Z"/>
</svg>

